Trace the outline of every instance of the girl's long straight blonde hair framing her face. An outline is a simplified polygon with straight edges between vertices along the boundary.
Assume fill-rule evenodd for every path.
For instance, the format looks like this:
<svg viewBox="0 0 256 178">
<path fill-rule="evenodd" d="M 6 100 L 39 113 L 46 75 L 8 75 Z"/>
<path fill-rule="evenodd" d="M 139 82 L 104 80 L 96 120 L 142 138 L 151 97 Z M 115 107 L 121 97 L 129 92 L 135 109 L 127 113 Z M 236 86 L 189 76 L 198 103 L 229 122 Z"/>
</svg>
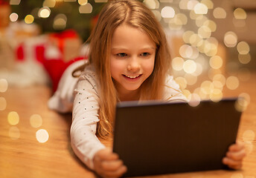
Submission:
<svg viewBox="0 0 256 178">
<path fill-rule="evenodd" d="M 109 56 L 112 35 L 121 24 L 137 27 L 147 33 L 156 44 L 154 70 L 141 85 L 141 100 L 161 99 L 164 79 L 170 67 L 170 53 L 164 31 L 151 10 L 135 0 L 109 1 L 103 7 L 89 37 L 89 63 L 95 67 L 100 84 L 100 122 L 97 125 L 97 135 L 102 139 L 112 137 L 115 105 L 118 102 L 118 93 L 111 76 Z"/>
</svg>

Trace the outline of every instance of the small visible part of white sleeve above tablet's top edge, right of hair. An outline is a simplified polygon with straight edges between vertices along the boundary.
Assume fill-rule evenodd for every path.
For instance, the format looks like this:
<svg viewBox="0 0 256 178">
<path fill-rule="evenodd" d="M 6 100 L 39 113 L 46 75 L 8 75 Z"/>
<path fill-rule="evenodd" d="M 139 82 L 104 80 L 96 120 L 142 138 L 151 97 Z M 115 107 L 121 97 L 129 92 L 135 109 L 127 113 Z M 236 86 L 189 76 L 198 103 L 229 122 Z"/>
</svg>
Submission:
<svg viewBox="0 0 256 178">
<path fill-rule="evenodd" d="M 167 102 L 188 102 L 179 85 L 174 81 L 173 76 L 170 75 L 167 75 L 165 80 L 163 99 Z"/>
</svg>

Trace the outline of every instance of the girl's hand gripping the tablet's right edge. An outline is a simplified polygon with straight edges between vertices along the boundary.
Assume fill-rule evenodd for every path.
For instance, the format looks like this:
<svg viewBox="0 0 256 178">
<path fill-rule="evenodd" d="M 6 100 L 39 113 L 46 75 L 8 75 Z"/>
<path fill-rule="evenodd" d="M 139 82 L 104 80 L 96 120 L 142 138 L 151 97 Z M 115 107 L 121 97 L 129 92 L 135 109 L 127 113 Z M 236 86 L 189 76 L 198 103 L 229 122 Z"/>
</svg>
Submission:
<svg viewBox="0 0 256 178">
<path fill-rule="evenodd" d="M 237 142 L 228 148 L 228 152 L 223 158 L 223 164 L 229 168 L 240 169 L 243 165 L 243 158 L 246 156 L 246 150 L 242 142 Z"/>
</svg>

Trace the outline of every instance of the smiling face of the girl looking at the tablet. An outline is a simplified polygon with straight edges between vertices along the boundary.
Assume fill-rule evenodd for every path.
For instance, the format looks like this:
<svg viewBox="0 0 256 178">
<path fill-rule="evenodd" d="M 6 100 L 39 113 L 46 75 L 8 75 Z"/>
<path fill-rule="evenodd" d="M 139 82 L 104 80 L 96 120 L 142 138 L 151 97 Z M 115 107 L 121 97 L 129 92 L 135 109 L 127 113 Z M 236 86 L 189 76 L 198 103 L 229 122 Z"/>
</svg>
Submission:
<svg viewBox="0 0 256 178">
<path fill-rule="evenodd" d="M 121 24 L 112 36 L 110 67 L 119 94 L 140 88 L 154 69 L 156 45 L 147 33 Z"/>
</svg>

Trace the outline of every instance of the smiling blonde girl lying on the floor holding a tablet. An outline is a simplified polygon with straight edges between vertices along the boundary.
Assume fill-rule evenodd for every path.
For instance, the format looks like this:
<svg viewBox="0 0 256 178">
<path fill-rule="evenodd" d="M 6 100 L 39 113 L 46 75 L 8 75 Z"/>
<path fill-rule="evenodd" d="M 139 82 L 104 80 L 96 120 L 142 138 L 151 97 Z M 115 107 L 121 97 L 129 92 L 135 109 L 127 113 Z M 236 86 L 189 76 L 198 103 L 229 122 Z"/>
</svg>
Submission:
<svg viewBox="0 0 256 178">
<path fill-rule="evenodd" d="M 167 74 L 170 54 L 161 25 L 141 2 L 109 1 L 89 42 L 89 62 L 74 71 L 83 72 L 74 89 L 71 146 L 97 174 L 120 177 L 127 171 L 126 166 L 100 142 L 112 138 L 116 103 L 186 99 Z M 72 84 L 68 82 L 66 86 L 72 88 Z M 61 88 L 58 90 L 63 93 Z M 230 168 L 240 168 L 243 156 L 243 146 L 234 144 L 223 162 Z"/>
</svg>

